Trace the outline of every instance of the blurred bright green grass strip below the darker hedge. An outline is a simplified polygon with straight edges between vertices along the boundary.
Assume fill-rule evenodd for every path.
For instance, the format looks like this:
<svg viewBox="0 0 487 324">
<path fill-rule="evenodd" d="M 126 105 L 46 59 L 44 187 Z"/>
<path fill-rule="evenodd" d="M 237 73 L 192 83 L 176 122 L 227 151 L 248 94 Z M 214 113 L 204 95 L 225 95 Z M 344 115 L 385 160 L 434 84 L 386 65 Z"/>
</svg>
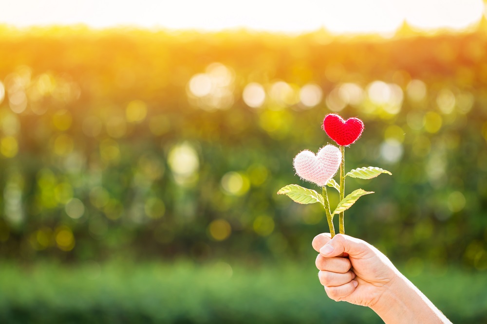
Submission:
<svg viewBox="0 0 487 324">
<path fill-rule="evenodd" d="M 2 263 L 0 323 L 382 323 L 329 300 L 312 265 L 233 266 Z M 487 321 L 485 272 L 412 279 L 453 322 Z"/>
</svg>

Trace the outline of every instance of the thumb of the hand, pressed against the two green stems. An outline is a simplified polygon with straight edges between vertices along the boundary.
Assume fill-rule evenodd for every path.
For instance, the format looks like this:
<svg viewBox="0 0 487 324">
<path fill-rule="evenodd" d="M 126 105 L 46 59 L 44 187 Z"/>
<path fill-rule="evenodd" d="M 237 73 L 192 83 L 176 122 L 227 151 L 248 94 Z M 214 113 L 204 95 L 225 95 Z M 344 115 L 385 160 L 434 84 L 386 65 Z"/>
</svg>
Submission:
<svg viewBox="0 0 487 324">
<path fill-rule="evenodd" d="M 342 253 L 348 253 L 352 257 L 366 253 L 369 247 L 365 241 L 358 238 L 337 234 L 327 244 L 325 244 L 319 253 L 325 257 L 340 256 Z"/>
</svg>

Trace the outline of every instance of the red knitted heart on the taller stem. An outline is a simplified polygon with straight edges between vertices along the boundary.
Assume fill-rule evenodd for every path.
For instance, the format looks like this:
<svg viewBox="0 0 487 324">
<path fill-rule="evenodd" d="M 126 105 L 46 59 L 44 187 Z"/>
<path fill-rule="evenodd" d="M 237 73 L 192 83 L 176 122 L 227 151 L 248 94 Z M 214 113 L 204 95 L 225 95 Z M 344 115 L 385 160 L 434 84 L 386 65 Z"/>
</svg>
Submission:
<svg viewBox="0 0 487 324">
<path fill-rule="evenodd" d="M 338 145 L 348 146 L 362 135 L 364 123 L 358 118 L 349 118 L 345 122 L 337 114 L 328 114 L 323 120 L 323 129 Z"/>
</svg>

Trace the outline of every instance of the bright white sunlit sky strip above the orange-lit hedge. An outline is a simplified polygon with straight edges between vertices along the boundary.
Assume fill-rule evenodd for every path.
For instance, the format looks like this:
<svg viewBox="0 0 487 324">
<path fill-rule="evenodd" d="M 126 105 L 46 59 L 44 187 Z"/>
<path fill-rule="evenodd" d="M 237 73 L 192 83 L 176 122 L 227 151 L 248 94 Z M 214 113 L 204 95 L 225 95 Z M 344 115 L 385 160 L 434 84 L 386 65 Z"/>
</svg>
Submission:
<svg viewBox="0 0 487 324">
<path fill-rule="evenodd" d="M 391 33 L 413 27 L 465 29 L 484 14 L 482 0 L 1 0 L 0 24 L 218 31 L 247 28 L 300 33 Z"/>
</svg>

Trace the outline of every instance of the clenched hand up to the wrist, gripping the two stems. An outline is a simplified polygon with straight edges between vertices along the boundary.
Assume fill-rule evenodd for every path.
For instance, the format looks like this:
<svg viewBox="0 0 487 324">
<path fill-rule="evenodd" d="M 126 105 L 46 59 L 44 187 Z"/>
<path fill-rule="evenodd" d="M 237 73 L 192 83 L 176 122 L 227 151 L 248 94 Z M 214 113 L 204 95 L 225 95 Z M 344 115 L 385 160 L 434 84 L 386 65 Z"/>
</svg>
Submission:
<svg viewBox="0 0 487 324">
<path fill-rule="evenodd" d="M 374 306 L 400 275 L 391 261 L 369 243 L 337 234 L 313 239 L 318 277 L 328 297 L 361 306 Z M 348 258 L 344 257 L 348 254 Z"/>
</svg>

